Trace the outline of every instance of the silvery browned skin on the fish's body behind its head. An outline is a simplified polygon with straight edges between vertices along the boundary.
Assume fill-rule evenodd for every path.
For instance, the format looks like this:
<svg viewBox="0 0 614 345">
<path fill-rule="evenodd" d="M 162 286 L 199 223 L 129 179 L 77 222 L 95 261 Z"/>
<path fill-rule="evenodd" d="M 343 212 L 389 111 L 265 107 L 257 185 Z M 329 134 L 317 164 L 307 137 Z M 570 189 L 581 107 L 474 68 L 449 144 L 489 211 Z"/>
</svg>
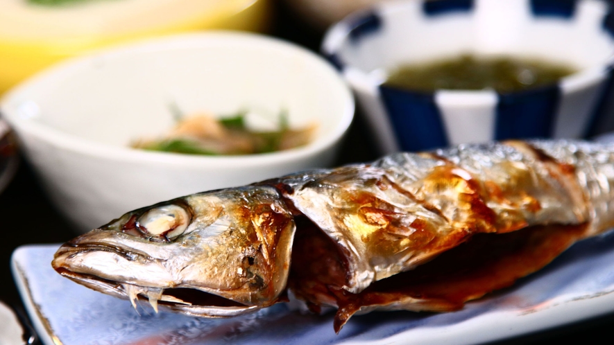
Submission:
<svg viewBox="0 0 614 345">
<path fill-rule="evenodd" d="M 295 183 L 282 194 L 336 244 L 330 255 L 346 276 L 295 274 L 291 290 L 312 306 L 339 307 L 339 296 L 423 265 L 477 233 L 588 224 L 574 238 L 595 235 L 614 224 L 613 152 L 613 145 L 573 141 L 468 144 L 393 154 Z M 362 309 L 451 308 L 399 299 Z"/>
</svg>

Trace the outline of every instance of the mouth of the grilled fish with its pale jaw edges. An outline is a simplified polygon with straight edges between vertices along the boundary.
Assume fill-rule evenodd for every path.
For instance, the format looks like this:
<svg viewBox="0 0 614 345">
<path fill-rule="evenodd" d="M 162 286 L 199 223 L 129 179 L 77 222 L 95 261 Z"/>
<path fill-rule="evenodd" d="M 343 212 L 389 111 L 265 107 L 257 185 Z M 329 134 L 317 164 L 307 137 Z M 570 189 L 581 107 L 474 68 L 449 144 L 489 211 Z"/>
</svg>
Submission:
<svg viewBox="0 0 614 345">
<path fill-rule="evenodd" d="M 137 308 L 137 301 L 148 302 L 157 312 L 158 306 L 175 312 L 182 312 L 194 316 L 207 317 L 232 317 L 251 312 L 262 308 L 260 306 L 248 306 L 221 297 L 210 292 L 191 287 L 148 287 L 135 285 L 121 281 L 113 281 L 108 278 L 88 274 L 86 272 L 76 272 L 67 265 L 65 260 L 77 253 L 87 251 L 107 251 L 116 254 L 126 260 L 138 260 L 139 258 L 153 259 L 142 251 L 135 251 L 133 248 L 124 248 L 103 243 L 88 242 L 80 244 L 62 245 L 51 265 L 56 272 L 65 276 L 76 283 L 85 285 L 92 290 L 105 292 L 121 299 L 128 299 L 133 307 Z"/>
</svg>

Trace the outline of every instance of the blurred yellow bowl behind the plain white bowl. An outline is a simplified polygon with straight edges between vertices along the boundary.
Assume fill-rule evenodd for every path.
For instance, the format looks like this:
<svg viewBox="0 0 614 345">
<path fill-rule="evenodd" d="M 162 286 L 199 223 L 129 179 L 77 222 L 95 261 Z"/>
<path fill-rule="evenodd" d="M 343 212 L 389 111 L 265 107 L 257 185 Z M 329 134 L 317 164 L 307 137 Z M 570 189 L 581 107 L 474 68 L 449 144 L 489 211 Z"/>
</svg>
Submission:
<svg viewBox="0 0 614 345">
<path fill-rule="evenodd" d="M 270 0 L 0 0 L 0 94 L 92 49 L 203 29 L 264 30 Z"/>
</svg>

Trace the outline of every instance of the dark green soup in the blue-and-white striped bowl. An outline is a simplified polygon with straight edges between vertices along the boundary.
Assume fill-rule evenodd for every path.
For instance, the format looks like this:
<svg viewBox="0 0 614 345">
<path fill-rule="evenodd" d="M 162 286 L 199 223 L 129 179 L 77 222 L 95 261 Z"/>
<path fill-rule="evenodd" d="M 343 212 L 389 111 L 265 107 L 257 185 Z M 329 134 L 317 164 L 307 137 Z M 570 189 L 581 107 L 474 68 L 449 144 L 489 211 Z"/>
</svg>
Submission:
<svg viewBox="0 0 614 345">
<path fill-rule="evenodd" d="M 576 71 L 571 66 L 551 61 L 461 55 L 450 60 L 399 67 L 391 71 L 384 85 L 423 92 L 495 89 L 505 94 L 554 84 Z"/>
</svg>

